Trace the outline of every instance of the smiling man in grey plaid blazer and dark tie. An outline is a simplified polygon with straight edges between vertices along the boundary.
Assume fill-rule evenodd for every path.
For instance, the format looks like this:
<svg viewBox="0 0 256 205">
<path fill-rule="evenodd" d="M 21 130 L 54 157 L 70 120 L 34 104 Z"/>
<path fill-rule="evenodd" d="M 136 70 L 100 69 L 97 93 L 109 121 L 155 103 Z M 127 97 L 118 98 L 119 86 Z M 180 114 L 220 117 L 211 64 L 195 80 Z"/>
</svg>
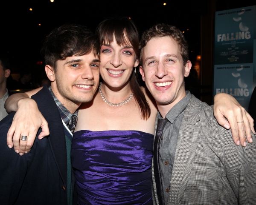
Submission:
<svg viewBox="0 0 256 205">
<path fill-rule="evenodd" d="M 212 107 L 185 91 L 184 76 L 192 64 L 182 32 L 158 24 L 143 33 L 140 48 L 140 73 L 159 110 L 154 204 L 255 205 L 256 146 L 236 145 L 231 131 L 218 125 Z"/>
</svg>

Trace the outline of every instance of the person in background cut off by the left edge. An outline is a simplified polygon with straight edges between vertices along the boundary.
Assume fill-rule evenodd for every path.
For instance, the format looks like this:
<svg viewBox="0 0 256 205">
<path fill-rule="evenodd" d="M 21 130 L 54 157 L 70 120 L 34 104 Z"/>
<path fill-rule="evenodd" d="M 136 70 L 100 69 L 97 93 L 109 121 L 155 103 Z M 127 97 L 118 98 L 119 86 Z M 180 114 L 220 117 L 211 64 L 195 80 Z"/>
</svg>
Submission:
<svg viewBox="0 0 256 205">
<path fill-rule="evenodd" d="M 4 108 L 4 103 L 9 97 L 6 88 L 7 78 L 10 76 L 10 63 L 6 57 L 0 56 L 0 120 L 8 115 Z"/>
</svg>

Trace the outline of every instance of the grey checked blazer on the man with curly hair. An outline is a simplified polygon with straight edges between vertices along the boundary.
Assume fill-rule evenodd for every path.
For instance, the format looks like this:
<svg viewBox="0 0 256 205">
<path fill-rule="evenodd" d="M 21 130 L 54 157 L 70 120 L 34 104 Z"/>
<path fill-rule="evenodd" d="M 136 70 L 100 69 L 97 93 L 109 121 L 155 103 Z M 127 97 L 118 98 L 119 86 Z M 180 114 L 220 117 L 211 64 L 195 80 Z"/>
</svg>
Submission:
<svg viewBox="0 0 256 205">
<path fill-rule="evenodd" d="M 152 195 L 158 205 L 153 165 Z M 256 205 L 255 143 L 237 146 L 212 108 L 194 95 L 181 122 L 169 190 L 167 205 Z"/>
</svg>

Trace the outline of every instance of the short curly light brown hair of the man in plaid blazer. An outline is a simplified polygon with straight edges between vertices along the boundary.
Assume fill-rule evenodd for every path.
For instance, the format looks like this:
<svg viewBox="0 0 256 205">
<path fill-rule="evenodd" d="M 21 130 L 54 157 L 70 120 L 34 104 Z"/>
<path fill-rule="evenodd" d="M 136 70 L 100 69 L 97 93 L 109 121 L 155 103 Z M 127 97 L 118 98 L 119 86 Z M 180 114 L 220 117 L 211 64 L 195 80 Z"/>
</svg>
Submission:
<svg viewBox="0 0 256 205">
<path fill-rule="evenodd" d="M 148 41 L 152 38 L 159 38 L 169 36 L 180 45 L 180 54 L 182 56 L 183 65 L 189 60 L 188 43 L 183 33 L 175 26 L 170 26 L 165 23 L 152 26 L 144 31 L 140 40 L 140 65 L 143 66 L 143 48 L 147 45 Z"/>
</svg>

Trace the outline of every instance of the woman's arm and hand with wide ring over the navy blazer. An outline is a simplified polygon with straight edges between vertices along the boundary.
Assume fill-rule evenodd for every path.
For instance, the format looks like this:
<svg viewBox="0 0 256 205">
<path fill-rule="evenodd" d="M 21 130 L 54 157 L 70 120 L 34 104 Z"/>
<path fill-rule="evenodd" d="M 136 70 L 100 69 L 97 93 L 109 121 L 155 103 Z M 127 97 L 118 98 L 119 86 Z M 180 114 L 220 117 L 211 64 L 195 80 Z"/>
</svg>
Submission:
<svg viewBox="0 0 256 205">
<path fill-rule="evenodd" d="M 26 93 L 13 94 L 4 105 L 8 113 L 17 111 L 7 133 L 7 145 L 9 148 L 13 146 L 16 153 L 20 155 L 30 151 L 40 127 L 42 132 L 38 136 L 39 140 L 49 135 L 47 121 L 38 110 L 35 100 L 30 99 L 39 90 L 41 88 Z M 27 136 L 27 141 L 20 140 L 20 135 Z"/>
</svg>

